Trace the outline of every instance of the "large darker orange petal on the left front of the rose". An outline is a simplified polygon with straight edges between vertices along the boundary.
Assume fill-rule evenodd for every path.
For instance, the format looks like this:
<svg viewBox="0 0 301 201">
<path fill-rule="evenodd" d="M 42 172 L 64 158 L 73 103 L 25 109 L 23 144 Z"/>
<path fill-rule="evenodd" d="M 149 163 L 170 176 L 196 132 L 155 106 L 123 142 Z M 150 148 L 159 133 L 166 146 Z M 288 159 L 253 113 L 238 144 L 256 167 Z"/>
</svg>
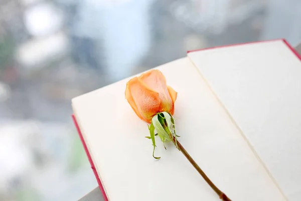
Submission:
<svg viewBox="0 0 301 201">
<path fill-rule="evenodd" d="M 137 77 L 129 80 L 128 87 L 140 114 L 138 117 L 150 123 L 152 118 L 159 112 L 161 100 L 158 92 L 148 88 Z"/>
</svg>

